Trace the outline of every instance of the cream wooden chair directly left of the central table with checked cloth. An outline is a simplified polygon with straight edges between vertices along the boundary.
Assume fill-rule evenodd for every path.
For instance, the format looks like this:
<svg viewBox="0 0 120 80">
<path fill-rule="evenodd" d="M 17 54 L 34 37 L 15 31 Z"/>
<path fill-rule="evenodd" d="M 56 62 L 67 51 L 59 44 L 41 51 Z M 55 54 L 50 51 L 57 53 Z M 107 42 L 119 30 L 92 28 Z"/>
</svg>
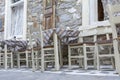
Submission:
<svg viewBox="0 0 120 80">
<path fill-rule="evenodd" d="M 42 26 L 40 27 L 33 27 L 33 25 L 31 24 L 30 28 L 30 45 L 32 48 L 32 67 L 33 70 L 36 69 L 35 65 L 37 66 L 41 66 L 41 70 L 44 71 L 45 69 L 47 69 L 46 67 L 49 67 L 49 64 L 52 64 L 52 66 L 54 65 L 56 68 L 56 53 L 55 51 L 55 47 L 52 44 L 50 45 L 45 45 L 44 41 L 45 41 L 45 31 L 42 30 Z M 51 33 L 48 33 L 48 35 Z M 48 36 L 47 36 L 48 37 Z M 37 42 L 37 49 L 34 48 L 33 46 L 33 42 Z M 57 43 L 54 43 L 57 44 Z M 37 50 L 35 55 L 35 51 Z M 40 51 L 40 52 L 39 52 Z M 39 55 L 39 56 L 38 56 Z M 59 64 L 59 63 L 58 63 Z"/>
</svg>

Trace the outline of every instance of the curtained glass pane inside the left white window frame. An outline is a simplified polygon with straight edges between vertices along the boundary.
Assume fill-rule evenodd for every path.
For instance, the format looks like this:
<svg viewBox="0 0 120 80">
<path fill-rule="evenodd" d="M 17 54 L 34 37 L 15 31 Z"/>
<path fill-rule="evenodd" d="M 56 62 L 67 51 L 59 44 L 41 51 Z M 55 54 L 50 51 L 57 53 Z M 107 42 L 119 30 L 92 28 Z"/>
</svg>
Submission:
<svg viewBox="0 0 120 80">
<path fill-rule="evenodd" d="M 12 8 L 10 36 L 23 34 L 23 5 Z"/>
</svg>

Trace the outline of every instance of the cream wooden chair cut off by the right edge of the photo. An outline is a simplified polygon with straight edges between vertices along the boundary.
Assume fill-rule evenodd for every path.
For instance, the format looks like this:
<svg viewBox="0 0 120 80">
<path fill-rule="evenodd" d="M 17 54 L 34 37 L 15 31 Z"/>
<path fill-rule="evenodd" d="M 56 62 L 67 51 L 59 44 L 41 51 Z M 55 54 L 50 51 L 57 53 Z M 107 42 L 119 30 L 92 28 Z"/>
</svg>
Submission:
<svg viewBox="0 0 120 80">
<path fill-rule="evenodd" d="M 115 66 L 116 71 L 120 74 L 120 52 L 119 52 L 119 28 L 120 26 L 120 4 L 116 5 L 107 5 L 107 12 L 109 15 L 109 21 L 112 27 L 113 33 L 113 45 L 115 53 Z"/>
</svg>

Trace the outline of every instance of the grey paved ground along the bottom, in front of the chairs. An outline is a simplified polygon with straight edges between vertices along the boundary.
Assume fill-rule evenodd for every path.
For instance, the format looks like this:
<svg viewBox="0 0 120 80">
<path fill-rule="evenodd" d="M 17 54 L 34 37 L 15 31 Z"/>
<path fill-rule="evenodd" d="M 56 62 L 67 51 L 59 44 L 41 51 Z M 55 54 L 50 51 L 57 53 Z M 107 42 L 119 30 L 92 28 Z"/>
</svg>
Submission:
<svg viewBox="0 0 120 80">
<path fill-rule="evenodd" d="M 44 72 L 0 70 L 0 80 L 120 80 L 118 75 L 68 74 L 70 72 Z"/>
</svg>

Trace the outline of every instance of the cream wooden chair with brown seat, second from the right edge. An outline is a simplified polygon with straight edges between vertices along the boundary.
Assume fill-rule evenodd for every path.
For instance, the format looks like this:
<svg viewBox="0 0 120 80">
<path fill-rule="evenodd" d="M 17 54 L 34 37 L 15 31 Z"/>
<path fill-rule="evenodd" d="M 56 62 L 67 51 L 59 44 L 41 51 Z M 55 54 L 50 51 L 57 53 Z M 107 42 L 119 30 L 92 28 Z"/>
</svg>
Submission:
<svg viewBox="0 0 120 80">
<path fill-rule="evenodd" d="M 106 64 L 109 64 L 109 67 L 110 64 L 112 64 L 113 67 L 112 69 L 114 69 L 114 52 L 113 52 L 112 34 L 110 33 L 97 34 L 96 53 L 97 53 L 98 70 L 100 70 L 102 66 L 105 68 Z M 102 66 L 101 63 L 103 64 Z"/>
</svg>

